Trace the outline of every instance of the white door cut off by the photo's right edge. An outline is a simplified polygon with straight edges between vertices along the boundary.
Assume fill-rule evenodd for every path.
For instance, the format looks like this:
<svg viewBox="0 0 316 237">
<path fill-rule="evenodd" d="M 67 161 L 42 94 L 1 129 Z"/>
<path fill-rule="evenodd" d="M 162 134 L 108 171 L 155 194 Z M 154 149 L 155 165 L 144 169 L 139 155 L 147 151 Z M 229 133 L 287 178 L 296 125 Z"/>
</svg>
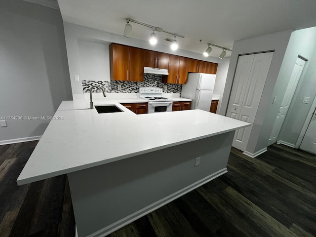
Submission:
<svg viewBox="0 0 316 237">
<path fill-rule="evenodd" d="M 304 135 L 300 149 L 316 154 L 316 108 Z"/>
</svg>

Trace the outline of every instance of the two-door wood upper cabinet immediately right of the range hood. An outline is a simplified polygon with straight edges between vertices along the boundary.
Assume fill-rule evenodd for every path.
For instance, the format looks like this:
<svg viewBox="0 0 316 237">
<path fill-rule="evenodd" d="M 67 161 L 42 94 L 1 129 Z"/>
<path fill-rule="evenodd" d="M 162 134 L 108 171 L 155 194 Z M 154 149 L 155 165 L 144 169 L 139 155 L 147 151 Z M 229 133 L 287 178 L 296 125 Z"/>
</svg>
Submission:
<svg viewBox="0 0 316 237">
<path fill-rule="evenodd" d="M 189 58 L 170 55 L 168 76 L 162 76 L 162 82 L 173 84 L 185 84 L 188 78 Z"/>
</svg>

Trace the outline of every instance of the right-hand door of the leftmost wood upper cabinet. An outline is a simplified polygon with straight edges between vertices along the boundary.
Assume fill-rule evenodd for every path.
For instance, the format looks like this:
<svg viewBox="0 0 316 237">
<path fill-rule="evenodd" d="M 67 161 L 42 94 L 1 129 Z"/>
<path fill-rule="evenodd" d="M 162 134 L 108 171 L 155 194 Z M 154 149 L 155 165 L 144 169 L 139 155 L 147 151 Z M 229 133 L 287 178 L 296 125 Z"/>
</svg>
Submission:
<svg viewBox="0 0 316 237">
<path fill-rule="evenodd" d="M 130 75 L 128 80 L 144 81 L 144 50 L 129 47 Z"/>
</svg>

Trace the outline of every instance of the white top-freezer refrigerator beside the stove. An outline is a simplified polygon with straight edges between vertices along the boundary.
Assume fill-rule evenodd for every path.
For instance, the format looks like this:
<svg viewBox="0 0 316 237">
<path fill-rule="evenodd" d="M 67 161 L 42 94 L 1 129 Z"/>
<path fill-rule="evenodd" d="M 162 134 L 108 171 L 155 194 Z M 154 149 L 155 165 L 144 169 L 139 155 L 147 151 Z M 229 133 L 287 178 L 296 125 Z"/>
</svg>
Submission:
<svg viewBox="0 0 316 237">
<path fill-rule="evenodd" d="M 211 108 L 215 74 L 189 73 L 187 83 L 182 85 L 181 97 L 192 99 L 192 110 Z"/>
</svg>

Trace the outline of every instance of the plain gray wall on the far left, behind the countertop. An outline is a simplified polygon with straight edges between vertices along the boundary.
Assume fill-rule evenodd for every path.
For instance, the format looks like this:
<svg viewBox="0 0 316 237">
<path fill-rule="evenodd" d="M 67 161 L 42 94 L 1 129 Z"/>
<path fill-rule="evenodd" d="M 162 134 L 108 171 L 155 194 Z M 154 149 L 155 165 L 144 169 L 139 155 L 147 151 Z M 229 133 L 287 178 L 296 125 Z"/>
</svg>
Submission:
<svg viewBox="0 0 316 237">
<path fill-rule="evenodd" d="M 62 100 L 72 99 L 60 12 L 1 0 L 0 22 L 0 117 L 52 116 Z M 7 127 L 0 127 L 0 144 L 40 136 L 49 123 L 6 121 Z"/>
</svg>

